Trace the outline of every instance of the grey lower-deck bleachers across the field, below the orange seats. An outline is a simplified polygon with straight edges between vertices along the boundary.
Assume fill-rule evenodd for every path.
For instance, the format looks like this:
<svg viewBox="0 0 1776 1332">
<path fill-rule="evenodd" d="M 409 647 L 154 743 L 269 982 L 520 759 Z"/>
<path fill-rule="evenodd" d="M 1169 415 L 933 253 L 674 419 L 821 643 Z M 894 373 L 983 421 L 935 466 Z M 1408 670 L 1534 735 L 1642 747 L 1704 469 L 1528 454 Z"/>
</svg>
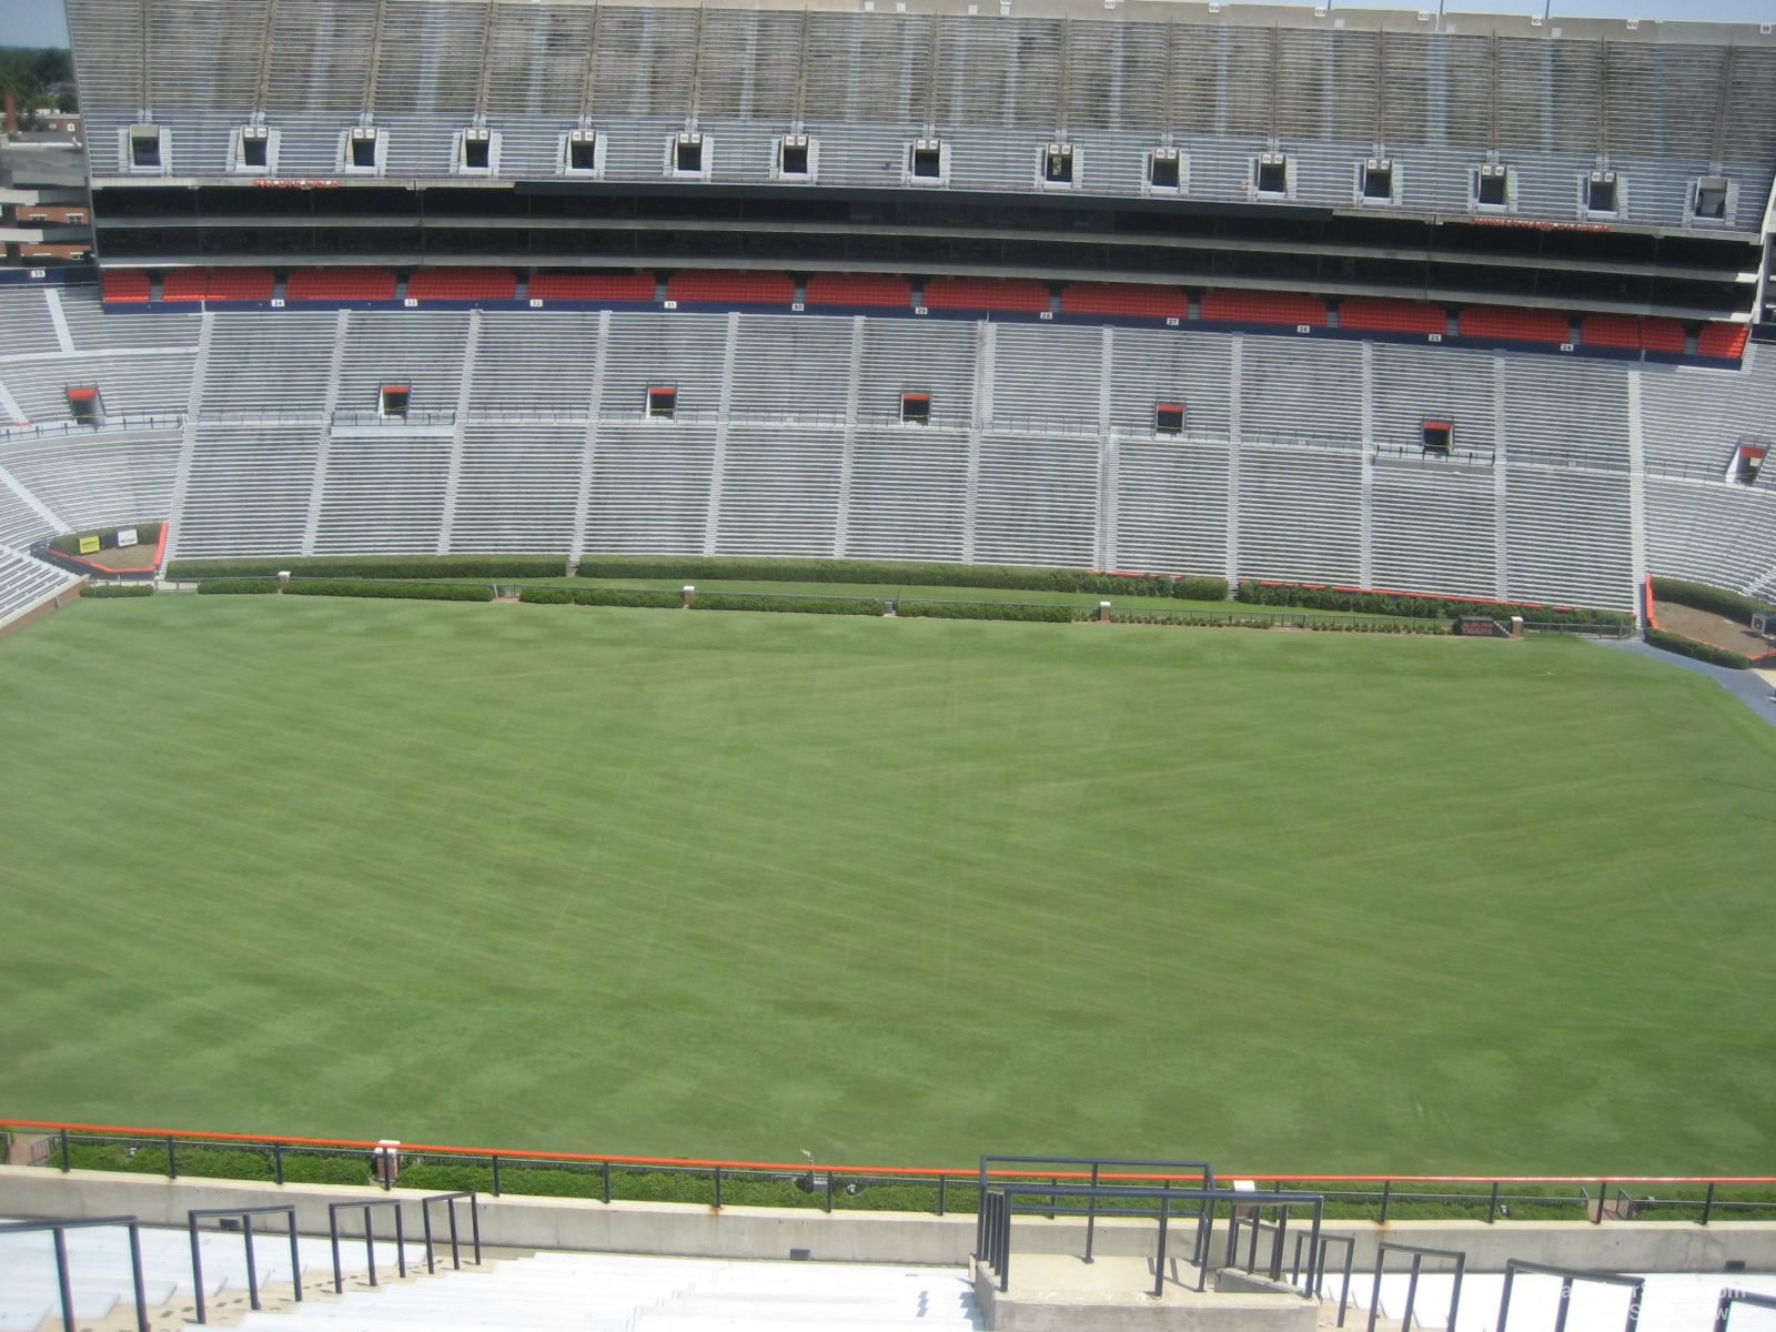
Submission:
<svg viewBox="0 0 1776 1332">
<path fill-rule="evenodd" d="M 1726 369 L 787 309 L 107 314 L 78 286 L 0 288 L 0 320 L 16 549 L 170 517 L 178 556 L 769 552 L 1613 607 L 1652 568 L 1776 591 L 1776 485 L 1730 478 L 1776 396 L 1760 346 Z M 101 424 L 73 423 L 76 385 Z M 1451 456 L 1424 453 L 1430 419 Z"/>
</svg>

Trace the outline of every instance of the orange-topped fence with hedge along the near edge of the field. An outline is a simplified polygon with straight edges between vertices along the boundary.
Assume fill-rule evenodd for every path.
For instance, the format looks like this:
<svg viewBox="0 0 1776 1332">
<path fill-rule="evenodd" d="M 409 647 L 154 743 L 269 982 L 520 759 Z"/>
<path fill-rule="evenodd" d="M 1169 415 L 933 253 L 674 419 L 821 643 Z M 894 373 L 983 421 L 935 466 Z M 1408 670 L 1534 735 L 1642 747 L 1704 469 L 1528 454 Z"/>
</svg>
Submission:
<svg viewBox="0 0 1776 1332">
<path fill-rule="evenodd" d="M 1177 1192 L 1199 1170 L 1067 1165 L 989 1158 L 966 1167 L 840 1165 L 686 1156 L 625 1156 L 522 1147 L 392 1144 L 266 1133 L 217 1133 L 43 1119 L 0 1119 L 12 1160 L 46 1170 L 110 1170 L 160 1179 L 240 1179 L 263 1185 L 377 1185 L 410 1195 L 480 1193 L 577 1197 L 591 1202 L 792 1206 L 821 1211 L 913 1211 L 979 1218 L 982 1179 L 1062 1186 L 1153 1186 Z M 391 1162 L 392 1154 L 392 1162 Z M 389 1165 L 391 1169 L 382 1169 Z M 982 1176 L 986 1170 L 986 1176 Z M 1430 1176 L 1270 1174 L 1217 1169 L 1213 1183 L 1249 1181 L 1268 1192 L 1314 1192 L 1330 1220 L 1776 1220 L 1776 1176 Z M 1099 1206 L 1098 1215 L 1105 1215 Z M 1112 1213 L 1114 1215 L 1114 1213 Z M 979 1224 L 979 1222 L 977 1222 Z M 1318 1261 L 1314 1263 L 1318 1268 Z"/>
</svg>

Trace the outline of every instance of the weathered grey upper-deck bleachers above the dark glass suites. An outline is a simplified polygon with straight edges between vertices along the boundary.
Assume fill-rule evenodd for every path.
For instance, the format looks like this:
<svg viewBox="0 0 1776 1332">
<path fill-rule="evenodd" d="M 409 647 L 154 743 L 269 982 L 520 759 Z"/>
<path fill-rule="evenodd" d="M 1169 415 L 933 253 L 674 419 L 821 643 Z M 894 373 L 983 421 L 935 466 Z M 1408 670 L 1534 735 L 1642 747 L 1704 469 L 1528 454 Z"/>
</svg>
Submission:
<svg viewBox="0 0 1776 1332">
<path fill-rule="evenodd" d="M 265 174 L 286 178 L 343 170 L 359 124 L 385 135 L 377 174 L 448 178 L 472 124 L 490 133 L 472 169 L 488 176 L 561 176 L 567 135 L 595 126 L 590 170 L 604 179 L 673 176 L 668 142 L 694 130 L 693 174 L 764 183 L 778 179 L 774 140 L 797 126 L 813 144 L 808 179 L 835 186 L 908 185 L 908 144 L 934 135 L 945 167 L 924 185 L 1037 194 L 1041 147 L 1064 133 L 1066 188 L 1094 195 L 1147 194 L 1146 155 L 1163 144 L 1181 153 L 1177 194 L 1257 197 L 1256 155 L 1282 151 L 1289 202 L 1375 206 L 1353 169 L 1385 144 L 1398 183 L 1382 206 L 1471 213 L 1472 172 L 1499 155 L 1522 217 L 1582 217 L 1581 181 L 1602 163 L 1623 183 L 1618 217 L 1728 229 L 1762 217 L 1776 44 L 1756 28 L 1465 14 L 1433 28 L 1362 11 L 1275 25 L 1176 9 L 1151 21 L 1121 7 L 71 0 L 69 25 L 101 178 L 139 170 L 126 139 L 142 117 L 165 131 L 149 170 L 181 178 L 238 170 L 233 135 L 252 121 L 272 135 Z M 1717 174 L 1733 186 L 1700 217 L 1694 185 Z"/>
</svg>

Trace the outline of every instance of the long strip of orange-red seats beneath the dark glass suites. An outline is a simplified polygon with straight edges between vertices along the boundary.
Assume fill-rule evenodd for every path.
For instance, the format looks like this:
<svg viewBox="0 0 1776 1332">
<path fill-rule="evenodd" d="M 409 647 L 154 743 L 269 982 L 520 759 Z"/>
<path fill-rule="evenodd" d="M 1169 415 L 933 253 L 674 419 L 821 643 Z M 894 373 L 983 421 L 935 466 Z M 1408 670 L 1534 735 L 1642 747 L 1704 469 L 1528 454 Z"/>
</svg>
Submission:
<svg viewBox="0 0 1776 1332">
<path fill-rule="evenodd" d="M 536 274 L 527 281 L 506 268 L 419 268 L 405 279 L 392 268 L 298 268 L 284 279 L 268 268 L 174 268 L 160 279 L 156 298 L 149 274 L 107 268 L 107 307 L 249 304 L 410 302 L 426 304 L 654 304 L 790 309 L 941 311 L 954 314 L 1025 314 L 1039 318 L 1114 318 L 1206 323 L 1344 329 L 1412 337 L 1467 337 L 1526 346 L 1582 346 L 1609 352 L 1652 352 L 1682 357 L 1689 339 L 1678 320 L 1588 314 L 1574 321 L 1554 311 L 1467 305 L 1451 321 L 1442 305 L 1348 297 L 1336 307 L 1320 297 L 1288 291 L 1204 291 L 1121 282 L 1066 282 L 1058 295 L 1035 279 L 934 277 L 922 286 L 892 274 L 813 274 L 805 282 L 785 272 L 677 272 L 661 284 L 654 274 Z M 1694 353 L 1737 361 L 1748 327 L 1701 325 Z"/>
</svg>

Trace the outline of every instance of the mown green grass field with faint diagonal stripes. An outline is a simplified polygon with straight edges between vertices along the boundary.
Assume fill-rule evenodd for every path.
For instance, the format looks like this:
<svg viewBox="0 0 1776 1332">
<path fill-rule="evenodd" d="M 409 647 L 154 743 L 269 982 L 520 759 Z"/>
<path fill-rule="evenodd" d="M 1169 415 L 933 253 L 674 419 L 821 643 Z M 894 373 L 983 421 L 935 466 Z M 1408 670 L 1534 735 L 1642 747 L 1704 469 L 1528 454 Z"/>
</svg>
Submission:
<svg viewBox="0 0 1776 1332">
<path fill-rule="evenodd" d="M 1776 728 L 1591 643 L 155 597 L 0 753 L 0 1114 L 1772 1160 Z"/>
</svg>

